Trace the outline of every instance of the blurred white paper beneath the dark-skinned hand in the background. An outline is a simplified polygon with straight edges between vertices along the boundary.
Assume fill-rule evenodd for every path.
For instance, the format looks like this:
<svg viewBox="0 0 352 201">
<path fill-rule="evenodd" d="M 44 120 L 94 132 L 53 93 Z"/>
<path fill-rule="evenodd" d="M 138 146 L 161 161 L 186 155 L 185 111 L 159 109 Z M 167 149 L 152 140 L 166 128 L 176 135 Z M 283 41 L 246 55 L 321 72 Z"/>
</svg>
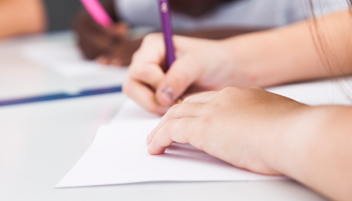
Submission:
<svg viewBox="0 0 352 201">
<path fill-rule="evenodd" d="M 61 76 L 84 77 L 119 72 L 126 74 L 126 68 L 106 66 L 88 61 L 73 41 L 45 41 L 22 46 L 24 57 L 41 63 Z"/>
</svg>

